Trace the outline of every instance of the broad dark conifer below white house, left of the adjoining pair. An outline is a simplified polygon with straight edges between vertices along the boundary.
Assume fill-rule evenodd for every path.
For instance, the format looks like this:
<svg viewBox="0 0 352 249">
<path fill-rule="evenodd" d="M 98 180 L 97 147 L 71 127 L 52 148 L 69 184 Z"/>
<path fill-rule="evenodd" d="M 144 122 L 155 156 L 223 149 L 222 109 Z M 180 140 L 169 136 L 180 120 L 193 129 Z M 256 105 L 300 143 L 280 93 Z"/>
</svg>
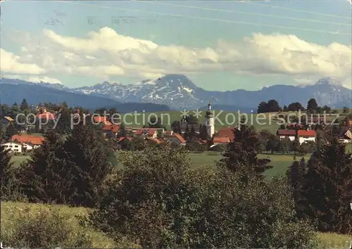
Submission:
<svg viewBox="0 0 352 249">
<path fill-rule="evenodd" d="M 32 202 L 71 203 L 73 174 L 63 151 L 63 139 L 54 130 L 45 134 L 42 145 L 35 149 L 17 172 L 20 187 Z"/>
</svg>

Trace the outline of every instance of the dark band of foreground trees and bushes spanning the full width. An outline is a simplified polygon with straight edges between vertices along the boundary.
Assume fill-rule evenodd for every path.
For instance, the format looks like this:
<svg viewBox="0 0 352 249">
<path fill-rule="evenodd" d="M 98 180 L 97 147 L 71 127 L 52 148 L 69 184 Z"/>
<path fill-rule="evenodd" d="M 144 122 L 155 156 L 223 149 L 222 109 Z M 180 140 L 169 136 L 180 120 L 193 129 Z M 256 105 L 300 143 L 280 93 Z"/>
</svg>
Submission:
<svg viewBox="0 0 352 249">
<path fill-rule="evenodd" d="M 272 166 L 257 156 L 256 131 L 241 125 L 234 136 L 215 169 L 192 170 L 187 150 L 169 143 L 122 152 L 119 169 L 93 127 L 77 125 L 68 137 L 49 131 L 20 167 L 1 147 L 1 198 L 92 208 L 80 217 L 82 227 L 142 248 L 318 248 L 315 226 L 351 233 L 352 155 L 344 144 L 327 133 L 308 162 L 294 161 L 287 177 L 267 181 L 263 173 Z M 27 233 L 13 229 L 3 245 L 23 236 L 11 246 L 52 246 L 33 236 L 55 227 L 48 217 L 42 215 L 42 231 L 23 219 Z M 89 244 L 80 233 L 70 241 L 68 247 Z"/>
</svg>

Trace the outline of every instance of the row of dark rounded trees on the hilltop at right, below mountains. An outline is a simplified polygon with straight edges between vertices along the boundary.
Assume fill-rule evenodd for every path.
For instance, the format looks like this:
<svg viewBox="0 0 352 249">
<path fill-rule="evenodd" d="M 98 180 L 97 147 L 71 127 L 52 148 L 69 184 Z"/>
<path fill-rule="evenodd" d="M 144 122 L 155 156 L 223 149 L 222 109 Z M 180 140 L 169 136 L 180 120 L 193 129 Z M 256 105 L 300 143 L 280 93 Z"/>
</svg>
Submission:
<svg viewBox="0 0 352 249">
<path fill-rule="evenodd" d="M 277 112 L 296 112 L 298 110 L 306 111 L 308 113 L 336 113 L 336 110 L 332 110 L 329 106 L 318 106 L 315 98 L 310 98 L 307 106 L 302 106 L 299 102 L 290 103 L 289 106 L 284 105 L 284 107 L 279 106 L 279 103 L 275 99 L 271 99 L 268 102 L 262 101 L 259 103 L 257 113 L 277 113 Z M 344 113 L 349 112 L 349 108 L 344 107 Z"/>
</svg>

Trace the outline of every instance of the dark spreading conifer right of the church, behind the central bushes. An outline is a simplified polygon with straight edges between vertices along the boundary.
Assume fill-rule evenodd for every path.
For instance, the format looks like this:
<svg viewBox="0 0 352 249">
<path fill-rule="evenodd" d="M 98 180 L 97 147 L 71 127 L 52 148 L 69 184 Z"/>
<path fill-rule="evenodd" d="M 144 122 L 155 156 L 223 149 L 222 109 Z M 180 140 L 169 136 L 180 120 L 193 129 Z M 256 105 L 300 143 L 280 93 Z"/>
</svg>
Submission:
<svg viewBox="0 0 352 249">
<path fill-rule="evenodd" d="M 249 174 L 263 178 L 261 174 L 272 166 L 268 165 L 270 160 L 257 157 L 260 143 L 255 129 L 241 125 L 240 129 L 234 129 L 234 137 L 236 139 L 229 143 L 224 158 L 221 160 L 222 164 L 233 172 L 237 172 L 241 167 L 246 167 Z"/>
</svg>

